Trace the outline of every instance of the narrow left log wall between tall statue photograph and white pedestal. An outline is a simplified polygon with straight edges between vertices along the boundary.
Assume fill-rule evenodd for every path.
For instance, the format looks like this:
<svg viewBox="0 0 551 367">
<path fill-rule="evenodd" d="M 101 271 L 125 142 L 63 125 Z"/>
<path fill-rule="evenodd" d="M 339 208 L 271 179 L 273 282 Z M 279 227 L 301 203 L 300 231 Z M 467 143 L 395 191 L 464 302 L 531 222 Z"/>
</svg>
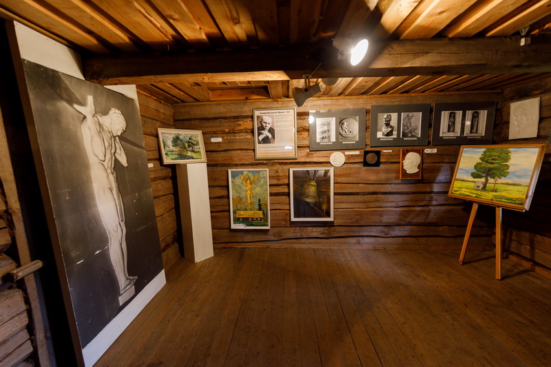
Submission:
<svg viewBox="0 0 551 367">
<path fill-rule="evenodd" d="M 176 178 L 176 171 L 174 167 L 163 166 L 159 161 L 157 128 L 174 128 L 174 109 L 139 88 L 138 102 L 140 103 L 147 163 L 153 165 L 153 167 L 149 167 L 149 178 L 151 178 L 160 249 L 166 268 L 180 257 L 177 234 L 178 214 L 175 205 L 178 200 L 174 200 L 173 181 Z"/>
</svg>

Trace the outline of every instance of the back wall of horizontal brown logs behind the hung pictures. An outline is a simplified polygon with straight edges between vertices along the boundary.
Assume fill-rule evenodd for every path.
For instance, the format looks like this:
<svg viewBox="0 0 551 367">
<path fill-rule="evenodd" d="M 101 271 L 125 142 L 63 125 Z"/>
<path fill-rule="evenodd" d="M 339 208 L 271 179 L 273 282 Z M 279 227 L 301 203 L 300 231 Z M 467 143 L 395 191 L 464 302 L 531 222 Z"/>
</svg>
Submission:
<svg viewBox="0 0 551 367">
<path fill-rule="evenodd" d="M 298 109 L 298 159 L 255 160 L 252 108 L 293 107 L 289 102 L 174 105 L 175 125 L 202 130 L 207 149 L 213 240 L 216 247 L 349 247 L 370 249 L 460 249 L 470 205 L 448 198 L 459 146 L 438 146 L 424 154 L 422 180 L 399 180 L 400 148 L 383 151 L 381 167 L 363 167 L 360 155 L 335 167 L 335 221 L 291 222 L 289 168 L 330 166 L 333 151 L 309 150 L 308 109 L 366 107 L 369 147 L 371 105 L 451 101 L 500 101 L 499 94 L 399 96 L 307 101 Z M 501 108 L 501 103 L 499 103 Z M 501 118 L 501 113 L 497 114 Z M 432 121 L 432 113 L 430 120 Z M 431 122 L 432 125 L 432 122 Z M 211 143 L 211 138 L 222 138 Z M 407 147 L 402 147 L 407 148 Z M 426 147 L 421 147 L 426 148 Z M 228 169 L 268 168 L 271 228 L 232 230 Z M 490 249 L 495 222 L 484 209 L 477 217 L 470 249 Z"/>
</svg>

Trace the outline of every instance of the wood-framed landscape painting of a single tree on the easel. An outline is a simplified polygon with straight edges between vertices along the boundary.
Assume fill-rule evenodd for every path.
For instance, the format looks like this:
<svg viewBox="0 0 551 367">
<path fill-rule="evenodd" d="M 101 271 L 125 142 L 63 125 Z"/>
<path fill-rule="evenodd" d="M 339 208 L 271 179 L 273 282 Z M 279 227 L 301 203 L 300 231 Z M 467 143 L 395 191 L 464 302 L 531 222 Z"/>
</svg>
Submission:
<svg viewBox="0 0 551 367">
<path fill-rule="evenodd" d="M 544 153 L 545 145 L 461 147 L 448 196 L 528 210 Z"/>
</svg>

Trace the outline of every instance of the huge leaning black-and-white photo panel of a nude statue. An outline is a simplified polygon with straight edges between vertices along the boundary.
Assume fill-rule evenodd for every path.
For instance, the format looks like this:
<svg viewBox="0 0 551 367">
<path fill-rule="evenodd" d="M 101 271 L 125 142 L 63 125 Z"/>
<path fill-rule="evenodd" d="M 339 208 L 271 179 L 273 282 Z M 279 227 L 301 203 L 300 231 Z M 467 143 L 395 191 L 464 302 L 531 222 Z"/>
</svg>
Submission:
<svg viewBox="0 0 551 367">
<path fill-rule="evenodd" d="M 109 339 L 102 332 L 120 334 L 116 317 L 137 315 L 165 283 L 141 118 L 123 94 L 23 66 L 65 305 L 89 365 Z"/>
</svg>

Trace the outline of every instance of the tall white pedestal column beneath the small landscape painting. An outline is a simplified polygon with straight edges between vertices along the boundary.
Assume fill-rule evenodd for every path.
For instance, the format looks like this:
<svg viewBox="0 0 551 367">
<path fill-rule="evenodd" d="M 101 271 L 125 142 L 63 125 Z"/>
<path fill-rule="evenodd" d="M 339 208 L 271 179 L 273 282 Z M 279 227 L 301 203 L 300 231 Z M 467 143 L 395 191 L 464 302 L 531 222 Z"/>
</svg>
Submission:
<svg viewBox="0 0 551 367">
<path fill-rule="evenodd" d="M 214 255 L 207 163 L 177 165 L 184 257 L 200 262 Z"/>
</svg>

